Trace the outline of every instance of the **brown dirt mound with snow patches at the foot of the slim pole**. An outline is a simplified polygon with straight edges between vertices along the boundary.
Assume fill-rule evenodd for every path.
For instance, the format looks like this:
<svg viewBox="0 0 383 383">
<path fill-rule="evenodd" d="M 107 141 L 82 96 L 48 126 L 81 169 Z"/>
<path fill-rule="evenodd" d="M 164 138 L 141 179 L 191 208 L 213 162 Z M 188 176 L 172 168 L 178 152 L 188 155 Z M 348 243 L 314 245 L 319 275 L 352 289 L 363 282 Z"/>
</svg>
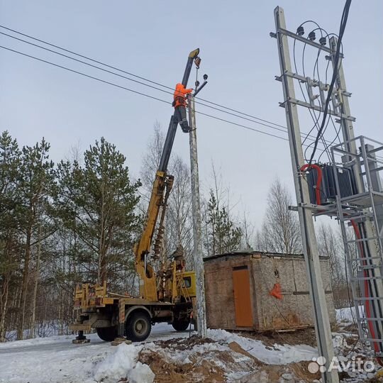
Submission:
<svg viewBox="0 0 383 383">
<path fill-rule="evenodd" d="M 309 362 L 267 365 L 236 342 L 223 345 L 191 337 L 157 341 L 150 347 L 140 351 L 138 360 L 155 373 L 155 383 L 312 382 L 321 377 L 309 372 Z"/>
</svg>

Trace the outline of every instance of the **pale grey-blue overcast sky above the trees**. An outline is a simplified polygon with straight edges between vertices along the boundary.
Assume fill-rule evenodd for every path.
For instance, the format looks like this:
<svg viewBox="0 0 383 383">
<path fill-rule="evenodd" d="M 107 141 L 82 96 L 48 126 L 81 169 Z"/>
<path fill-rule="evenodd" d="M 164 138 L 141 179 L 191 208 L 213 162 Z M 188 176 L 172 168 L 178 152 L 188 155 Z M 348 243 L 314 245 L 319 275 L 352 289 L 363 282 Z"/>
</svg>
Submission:
<svg viewBox="0 0 383 383">
<path fill-rule="evenodd" d="M 278 106 L 282 84 L 274 80 L 280 74 L 277 45 L 269 36 L 277 5 L 284 8 L 290 30 L 311 19 L 329 33 L 338 33 L 344 5 L 339 0 L 0 0 L 0 23 L 170 87 L 180 82 L 187 55 L 198 47 L 202 58 L 199 75 L 209 74 L 201 97 L 285 126 L 284 109 Z M 343 38 L 343 66 L 348 91 L 353 93 L 351 112 L 357 118 L 355 132 L 381 141 L 382 12 L 383 1 L 354 0 Z M 306 24 L 305 28 L 307 33 L 315 27 Z M 170 94 L 4 35 L 0 41 L 3 46 L 172 101 Z M 299 65 L 301 48 L 297 46 Z M 313 61 L 307 51 L 306 75 L 312 76 Z M 325 65 L 323 59 L 321 73 Z M 190 80 L 193 84 L 194 70 Z M 298 89 L 296 94 L 299 96 Z M 286 136 L 203 106 L 197 108 Z M 172 107 L 162 102 L 0 49 L 1 131 L 8 129 L 21 145 L 33 145 L 44 136 L 51 143 L 55 161 L 67 157 L 71 147 L 84 150 L 104 136 L 128 157 L 131 173 L 138 177 L 153 124 L 159 121 L 165 131 L 171 114 Z M 311 126 L 302 118 L 302 131 Z M 213 162 L 231 189 L 237 211 L 247 211 L 259 225 L 272 179 L 277 176 L 294 190 L 289 144 L 206 116 L 197 116 L 197 127 L 202 187 L 206 190 L 211 184 Z M 174 152 L 189 163 L 189 138 L 180 130 Z"/>
</svg>

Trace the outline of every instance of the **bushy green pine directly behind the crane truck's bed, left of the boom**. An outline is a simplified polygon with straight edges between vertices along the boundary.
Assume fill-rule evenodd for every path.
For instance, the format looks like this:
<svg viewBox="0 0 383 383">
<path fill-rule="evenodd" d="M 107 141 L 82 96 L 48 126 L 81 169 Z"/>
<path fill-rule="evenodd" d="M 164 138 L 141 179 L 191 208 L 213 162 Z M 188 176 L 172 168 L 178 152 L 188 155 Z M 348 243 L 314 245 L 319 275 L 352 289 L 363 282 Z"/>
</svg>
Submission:
<svg viewBox="0 0 383 383">
<path fill-rule="evenodd" d="M 74 161 L 58 167 L 57 206 L 65 226 L 79 240 L 76 256 L 83 280 L 116 285 L 121 273 L 133 267 L 140 182 L 131 183 L 125 162 L 116 146 L 101 138 L 84 152 L 83 166 Z"/>
</svg>

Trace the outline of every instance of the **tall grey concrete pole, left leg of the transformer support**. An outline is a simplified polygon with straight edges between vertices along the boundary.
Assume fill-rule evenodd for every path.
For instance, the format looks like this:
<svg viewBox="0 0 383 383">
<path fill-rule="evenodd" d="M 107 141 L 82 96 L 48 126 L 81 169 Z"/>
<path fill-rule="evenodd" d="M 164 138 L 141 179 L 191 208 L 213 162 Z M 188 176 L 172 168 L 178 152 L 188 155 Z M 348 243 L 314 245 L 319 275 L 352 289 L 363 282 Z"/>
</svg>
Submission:
<svg viewBox="0 0 383 383">
<path fill-rule="evenodd" d="M 277 6 L 274 9 L 274 19 L 277 38 L 279 63 L 281 67 L 281 81 L 284 94 L 284 109 L 286 111 L 287 128 L 289 131 L 289 144 L 292 156 L 292 170 L 294 174 L 294 185 L 296 191 L 296 202 L 298 204 L 299 223 L 301 226 L 302 244 L 304 248 L 304 259 L 306 262 L 306 274 L 309 284 L 311 303 L 313 306 L 313 319 L 316 329 L 316 340 L 318 343 L 319 356 L 326 358 L 326 372 L 323 372 L 323 383 L 338 383 L 338 371 L 328 371 L 329 364 L 334 356 L 333 343 L 331 339 L 330 320 L 326 306 L 326 297 L 323 289 L 321 276 L 321 265 L 319 263 L 318 247 L 313 226 L 312 211 L 305 206 L 310 204 L 309 187 L 301 176 L 301 167 L 304 165 L 304 154 L 301 144 L 301 132 L 297 105 L 295 100 L 292 65 L 287 42 L 286 23 L 284 11 Z"/>
</svg>

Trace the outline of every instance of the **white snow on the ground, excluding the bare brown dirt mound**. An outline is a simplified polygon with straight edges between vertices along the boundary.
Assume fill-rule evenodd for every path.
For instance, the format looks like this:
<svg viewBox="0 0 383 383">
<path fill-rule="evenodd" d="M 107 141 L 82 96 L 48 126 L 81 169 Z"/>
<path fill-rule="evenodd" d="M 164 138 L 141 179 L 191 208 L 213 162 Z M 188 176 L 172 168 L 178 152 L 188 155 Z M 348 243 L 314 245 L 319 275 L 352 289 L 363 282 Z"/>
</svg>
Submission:
<svg viewBox="0 0 383 383">
<path fill-rule="evenodd" d="M 194 352 L 229 350 L 228 344 L 238 343 L 243 350 L 268 364 L 286 364 L 311 360 L 316 349 L 307 345 L 265 346 L 260 340 L 245 338 L 223 330 L 209 330 L 208 343 L 194 348 Z M 189 332 L 174 331 L 172 326 L 159 323 L 145 343 L 113 347 L 96 334 L 88 335 L 91 343 L 72 344 L 73 335 L 52 336 L 32 340 L 18 340 L 0 344 L 0 382 L 2 383 L 115 383 L 121 377 L 129 382 L 152 382 L 154 375 L 147 365 L 137 362 L 140 350 L 159 352 L 157 340 L 189 338 Z M 174 362 L 187 363 L 190 350 L 170 355 Z"/>
</svg>

